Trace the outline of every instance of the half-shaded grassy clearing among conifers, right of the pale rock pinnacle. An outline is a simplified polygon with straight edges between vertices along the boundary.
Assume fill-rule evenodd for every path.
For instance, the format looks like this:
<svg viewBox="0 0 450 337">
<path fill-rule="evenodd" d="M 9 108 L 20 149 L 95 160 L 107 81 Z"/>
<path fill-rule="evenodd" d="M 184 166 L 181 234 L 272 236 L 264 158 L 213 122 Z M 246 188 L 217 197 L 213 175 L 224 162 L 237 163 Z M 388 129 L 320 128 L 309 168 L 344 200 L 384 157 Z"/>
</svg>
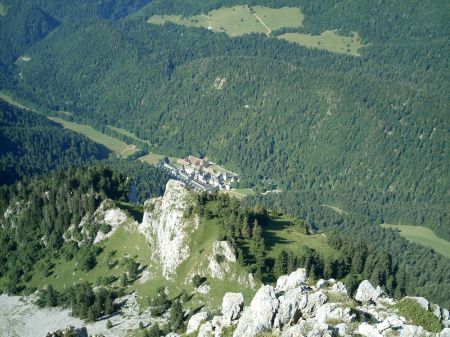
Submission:
<svg viewBox="0 0 450 337">
<path fill-rule="evenodd" d="M 292 218 L 275 218 L 264 227 L 263 236 L 267 242 L 268 256 L 276 257 L 280 250 L 298 252 L 301 246 L 312 248 L 326 257 L 336 256 L 338 252 L 331 248 L 324 234 L 306 235 L 292 225 Z"/>
</svg>

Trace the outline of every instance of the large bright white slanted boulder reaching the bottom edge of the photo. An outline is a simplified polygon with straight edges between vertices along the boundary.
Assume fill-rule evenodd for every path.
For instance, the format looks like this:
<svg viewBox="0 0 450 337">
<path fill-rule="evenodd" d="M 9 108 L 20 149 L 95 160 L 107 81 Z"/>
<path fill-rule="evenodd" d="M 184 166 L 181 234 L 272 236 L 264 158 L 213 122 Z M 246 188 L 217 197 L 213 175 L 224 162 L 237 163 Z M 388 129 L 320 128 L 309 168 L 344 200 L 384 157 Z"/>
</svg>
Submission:
<svg viewBox="0 0 450 337">
<path fill-rule="evenodd" d="M 260 332 L 271 330 L 279 307 L 272 286 L 262 286 L 239 320 L 233 337 L 254 337 Z"/>
</svg>

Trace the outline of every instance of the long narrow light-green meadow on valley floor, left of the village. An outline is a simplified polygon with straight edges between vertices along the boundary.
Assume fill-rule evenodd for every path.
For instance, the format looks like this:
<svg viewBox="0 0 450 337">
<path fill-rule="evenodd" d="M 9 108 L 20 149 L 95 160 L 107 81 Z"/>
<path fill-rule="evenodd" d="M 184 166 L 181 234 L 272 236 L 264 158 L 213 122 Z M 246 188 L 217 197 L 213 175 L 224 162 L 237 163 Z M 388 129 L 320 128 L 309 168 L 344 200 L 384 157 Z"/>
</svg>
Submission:
<svg viewBox="0 0 450 337">
<path fill-rule="evenodd" d="M 92 139 L 96 143 L 104 145 L 105 147 L 113 151 L 117 156 L 120 156 L 122 158 L 127 158 L 138 150 L 135 145 L 128 145 L 116 138 L 105 135 L 100 131 L 95 130 L 89 125 L 69 122 L 59 117 L 48 117 L 48 119 L 61 124 L 66 129 L 81 133 L 82 135 Z"/>
</svg>

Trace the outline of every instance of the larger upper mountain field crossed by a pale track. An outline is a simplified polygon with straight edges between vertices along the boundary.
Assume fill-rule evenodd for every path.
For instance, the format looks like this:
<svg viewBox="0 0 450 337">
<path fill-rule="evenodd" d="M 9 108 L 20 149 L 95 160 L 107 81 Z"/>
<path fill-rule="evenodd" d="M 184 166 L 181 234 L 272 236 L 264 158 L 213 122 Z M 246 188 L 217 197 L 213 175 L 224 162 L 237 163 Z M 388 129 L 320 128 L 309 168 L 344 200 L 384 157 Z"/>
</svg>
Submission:
<svg viewBox="0 0 450 337">
<path fill-rule="evenodd" d="M 273 30 L 283 27 L 301 27 L 303 15 L 300 9 L 283 7 L 233 6 L 212 10 L 207 15 L 200 14 L 184 18 L 179 15 L 155 15 L 147 20 L 151 24 L 172 22 L 189 27 L 201 27 L 214 32 L 224 32 L 229 36 L 242 36 L 251 33 L 269 35 Z"/>
</svg>

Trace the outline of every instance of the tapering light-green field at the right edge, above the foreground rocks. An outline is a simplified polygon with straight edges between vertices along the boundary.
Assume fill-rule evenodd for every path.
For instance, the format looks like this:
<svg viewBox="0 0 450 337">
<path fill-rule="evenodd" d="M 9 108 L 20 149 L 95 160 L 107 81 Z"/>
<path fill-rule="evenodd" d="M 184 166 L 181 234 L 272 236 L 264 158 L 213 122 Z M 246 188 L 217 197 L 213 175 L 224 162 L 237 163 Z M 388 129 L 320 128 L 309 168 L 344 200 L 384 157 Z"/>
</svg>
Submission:
<svg viewBox="0 0 450 337">
<path fill-rule="evenodd" d="M 382 224 L 381 227 L 399 230 L 400 235 L 406 240 L 432 248 L 436 253 L 450 259 L 450 242 L 437 237 L 429 228 L 388 224 Z"/>
</svg>

